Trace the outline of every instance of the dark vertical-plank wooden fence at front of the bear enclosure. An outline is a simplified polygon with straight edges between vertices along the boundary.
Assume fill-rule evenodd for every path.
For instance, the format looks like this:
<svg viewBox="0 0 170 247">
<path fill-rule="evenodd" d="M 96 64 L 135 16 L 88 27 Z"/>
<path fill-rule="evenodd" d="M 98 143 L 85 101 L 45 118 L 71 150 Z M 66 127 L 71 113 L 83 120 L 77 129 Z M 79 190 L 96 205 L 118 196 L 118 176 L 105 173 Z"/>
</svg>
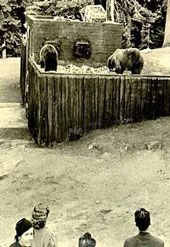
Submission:
<svg viewBox="0 0 170 247">
<path fill-rule="evenodd" d="M 28 125 L 40 146 L 170 115 L 169 77 L 41 73 L 31 60 L 28 70 Z"/>
</svg>

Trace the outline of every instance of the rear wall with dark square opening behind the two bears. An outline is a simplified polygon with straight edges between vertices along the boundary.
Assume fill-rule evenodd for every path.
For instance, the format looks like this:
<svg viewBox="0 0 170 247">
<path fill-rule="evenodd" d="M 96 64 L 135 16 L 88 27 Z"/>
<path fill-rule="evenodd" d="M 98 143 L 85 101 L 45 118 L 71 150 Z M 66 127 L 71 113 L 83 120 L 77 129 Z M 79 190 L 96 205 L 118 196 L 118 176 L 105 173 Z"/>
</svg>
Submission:
<svg viewBox="0 0 170 247">
<path fill-rule="evenodd" d="M 83 63 L 96 66 L 106 64 L 107 58 L 115 49 L 121 47 L 122 30 L 120 23 L 84 22 L 60 20 L 48 16 L 27 16 L 28 58 L 39 62 L 39 52 L 45 41 L 52 41 L 59 49 L 59 63 Z M 88 41 L 91 56 L 77 58 L 74 56 L 76 41 Z"/>
</svg>

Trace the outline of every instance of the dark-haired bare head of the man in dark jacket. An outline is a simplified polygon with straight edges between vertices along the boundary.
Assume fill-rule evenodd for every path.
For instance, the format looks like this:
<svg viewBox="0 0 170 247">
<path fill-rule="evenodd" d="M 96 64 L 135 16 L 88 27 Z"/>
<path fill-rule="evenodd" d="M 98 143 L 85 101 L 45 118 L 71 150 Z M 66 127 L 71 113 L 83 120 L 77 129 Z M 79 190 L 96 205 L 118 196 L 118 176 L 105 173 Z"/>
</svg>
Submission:
<svg viewBox="0 0 170 247">
<path fill-rule="evenodd" d="M 150 225 L 150 213 L 144 208 L 140 208 L 135 212 L 136 226 L 140 231 L 145 231 Z"/>
</svg>

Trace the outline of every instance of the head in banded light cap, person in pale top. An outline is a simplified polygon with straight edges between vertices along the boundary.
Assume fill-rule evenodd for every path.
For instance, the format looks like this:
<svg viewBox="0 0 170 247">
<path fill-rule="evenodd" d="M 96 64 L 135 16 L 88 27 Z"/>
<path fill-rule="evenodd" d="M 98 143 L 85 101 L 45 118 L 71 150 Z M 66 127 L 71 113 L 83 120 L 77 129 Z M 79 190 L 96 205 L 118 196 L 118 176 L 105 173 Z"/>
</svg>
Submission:
<svg viewBox="0 0 170 247">
<path fill-rule="evenodd" d="M 39 203 L 33 208 L 32 221 L 35 228 L 42 228 L 47 220 L 50 210 L 47 205 Z"/>
</svg>

